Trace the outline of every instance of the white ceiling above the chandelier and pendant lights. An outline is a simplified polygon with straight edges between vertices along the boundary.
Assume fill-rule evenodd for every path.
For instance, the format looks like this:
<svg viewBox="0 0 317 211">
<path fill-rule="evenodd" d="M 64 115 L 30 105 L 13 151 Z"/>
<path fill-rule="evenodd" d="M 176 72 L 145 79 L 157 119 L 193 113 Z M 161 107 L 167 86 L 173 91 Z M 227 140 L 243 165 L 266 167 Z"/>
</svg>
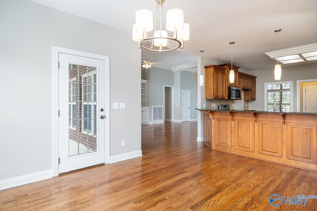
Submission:
<svg viewBox="0 0 317 211">
<path fill-rule="evenodd" d="M 156 6 L 155 0 L 31 1 L 131 34 L 135 12 Z M 317 0 L 165 0 L 165 6 L 182 9 L 190 24 L 183 49 L 161 54 L 142 50 L 142 60 L 162 62 L 166 69 L 191 67 L 197 56 L 231 63 L 231 49 L 233 64 L 243 70 L 273 68 L 276 62 L 264 53 L 277 50 L 278 28 L 279 49 L 317 43 Z"/>
</svg>

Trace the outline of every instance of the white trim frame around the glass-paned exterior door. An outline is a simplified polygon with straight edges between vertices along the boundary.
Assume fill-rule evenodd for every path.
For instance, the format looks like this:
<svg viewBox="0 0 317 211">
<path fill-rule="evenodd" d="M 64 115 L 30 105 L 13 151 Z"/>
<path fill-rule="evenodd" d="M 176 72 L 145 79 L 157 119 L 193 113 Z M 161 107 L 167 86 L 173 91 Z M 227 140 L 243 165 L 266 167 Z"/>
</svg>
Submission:
<svg viewBox="0 0 317 211">
<path fill-rule="evenodd" d="M 105 164 L 109 164 L 110 161 L 110 86 L 109 86 L 109 56 L 100 54 L 88 53 L 84 51 L 78 51 L 63 47 L 52 46 L 52 167 L 53 176 L 58 176 L 58 54 L 72 54 L 76 56 L 89 57 L 94 59 L 104 60 L 105 62 Z"/>
</svg>

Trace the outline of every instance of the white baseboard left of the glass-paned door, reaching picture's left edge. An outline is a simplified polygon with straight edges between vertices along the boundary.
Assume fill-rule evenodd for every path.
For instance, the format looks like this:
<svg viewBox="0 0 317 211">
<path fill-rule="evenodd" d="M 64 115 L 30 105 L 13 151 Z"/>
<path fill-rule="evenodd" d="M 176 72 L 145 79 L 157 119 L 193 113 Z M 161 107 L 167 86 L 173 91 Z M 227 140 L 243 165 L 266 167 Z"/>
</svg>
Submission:
<svg viewBox="0 0 317 211">
<path fill-rule="evenodd" d="M 44 170 L 36 173 L 30 173 L 9 179 L 0 180 L 0 190 L 25 185 L 32 182 L 38 182 L 53 177 L 53 169 Z"/>
</svg>

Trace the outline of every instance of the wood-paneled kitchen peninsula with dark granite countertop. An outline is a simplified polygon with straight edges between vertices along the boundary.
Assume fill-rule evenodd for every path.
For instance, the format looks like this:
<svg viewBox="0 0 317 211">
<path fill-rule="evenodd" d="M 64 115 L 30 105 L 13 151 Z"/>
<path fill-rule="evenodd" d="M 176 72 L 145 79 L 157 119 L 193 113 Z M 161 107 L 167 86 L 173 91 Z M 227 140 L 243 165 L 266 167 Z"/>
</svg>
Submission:
<svg viewBox="0 0 317 211">
<path fill-rule="evenodd" d="M 317 113 L 197 110 L 211 149 L 317 171 Z"/>
</svg>

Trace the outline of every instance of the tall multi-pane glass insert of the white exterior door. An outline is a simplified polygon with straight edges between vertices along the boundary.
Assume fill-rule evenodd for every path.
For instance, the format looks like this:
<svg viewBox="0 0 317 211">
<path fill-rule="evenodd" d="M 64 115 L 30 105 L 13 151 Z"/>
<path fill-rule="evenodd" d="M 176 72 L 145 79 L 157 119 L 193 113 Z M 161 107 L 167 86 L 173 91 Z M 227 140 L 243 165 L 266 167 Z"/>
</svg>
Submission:
<svg viewBox="0 0 317 211">
<path fill-rule="evenodd" d="M 97 151 L 97 68 L 69 64 L 69 156 Z"/>
</svg>

